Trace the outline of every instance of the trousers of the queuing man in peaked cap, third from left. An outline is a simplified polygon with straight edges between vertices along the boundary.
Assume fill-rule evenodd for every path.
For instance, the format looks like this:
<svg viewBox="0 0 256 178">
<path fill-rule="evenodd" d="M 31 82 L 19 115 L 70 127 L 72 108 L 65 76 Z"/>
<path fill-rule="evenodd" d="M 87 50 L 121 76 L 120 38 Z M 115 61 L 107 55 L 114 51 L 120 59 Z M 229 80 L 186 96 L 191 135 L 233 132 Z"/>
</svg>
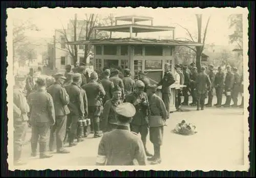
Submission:
<svg viewBox="0 0 256 178">
<path fill-rule="evenodd" d="M 55 125 L 51 129 L 49 147 L 53 150 L 56 142 L 57 151 L 63 149 L 63 141 L 67 129 L 67 116 L 56 116 Z"/>
</svg>

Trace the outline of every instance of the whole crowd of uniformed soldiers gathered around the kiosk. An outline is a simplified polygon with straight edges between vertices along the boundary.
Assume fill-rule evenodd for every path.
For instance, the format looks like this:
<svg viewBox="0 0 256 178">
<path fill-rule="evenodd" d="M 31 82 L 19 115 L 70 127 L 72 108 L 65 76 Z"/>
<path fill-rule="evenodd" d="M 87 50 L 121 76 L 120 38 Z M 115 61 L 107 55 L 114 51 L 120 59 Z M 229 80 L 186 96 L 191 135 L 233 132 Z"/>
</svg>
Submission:
<svg viewBox="0 0 256 178">
<path fill-rule="evenodd" d="M 177 110 L 182 104 L 188 105 L 188 92 L 197 110 L 200 107 L 204 109 L 207 93 L 208 106 L 211 106 L 214 87 L 218 107 L 221 106 L 224 88 L 227 96 L 225 106 L 230 105 L 231 99 L 237 106 L 241 82 L 238 73 L 231 73 L 230 66 L 227 66 L 225 80 L 221 68 L 215 75 L 212 65 L 209 74 L 205 73 L 205 67 L 201 68 L 200 74 L 197 74 L 195 66 L 191 67 L 190 73 L 186 66 L 181 71 L 177 64 L 173 74 L 170 64 L 166 63 L 163 78 L 154 85 L 142 71 L 137 80 L 132 79 L 129 69 L 123 70 L 122 79 L 119 70 L 103 69 L 103 78 L 98 80 L 96 72 L 89 77 L 84 66 L 71 70 L 70 65 L 66 66 L 65 74 L 53 75 L 54 82 L 47 82 L 40 75 L 33 76 L 32 70 L 28 77 L 16 75 L 13 90 L 14 163 L 24 164 L 20 159 L 28 126 L 32 127 L 32 157 L 37 156 L 38 142 L 39 158 L 50 158 L 52 154 L 48 154 L 48 150 L 54 151 L 55 146 L 57 153 L 70 152 L 63 147 L 66 139 L 72 147 L 90 133 L 94 138 L 101 137 L 102 131 L 104 135 L 98 148 L 97 165 L 145 165 L 147 157 L 151 164 L 161 163 L 163 128 L 169 118 L 172 97 L 170 85 L 177 85 Z M 187 87 L 180 87 L 183 84 Z M 24 94 L 25 86 L 30 87 L 27 96 Z M 162 98 L 155 94 L 158 86 L 162 86 Z M 154 154 L 146 147 L 148 132 Z"/>
</svg>

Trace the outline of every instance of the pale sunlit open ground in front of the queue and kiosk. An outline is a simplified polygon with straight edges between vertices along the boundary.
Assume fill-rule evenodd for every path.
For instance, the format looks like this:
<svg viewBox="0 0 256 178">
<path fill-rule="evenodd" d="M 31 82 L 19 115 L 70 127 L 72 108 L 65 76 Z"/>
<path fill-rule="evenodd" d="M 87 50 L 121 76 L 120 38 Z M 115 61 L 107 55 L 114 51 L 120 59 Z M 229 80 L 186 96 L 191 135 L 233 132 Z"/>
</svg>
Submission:
<svg viewBox="0 0 256 178">
<path fill-rule="evenodd" d="M 215 103 L 215 102 L 214 102 Z M 240 101 L 239 101 L 240 103 Z M 162 146 L 162 163 L 164 167 L 184 167 L 194 165 L 214 167 L 216 165 L 239 166 L 243 164 L 243 109 L 241 108 L 207 108 L 197 111 L 195 107 L 187 107 L 189 112 L 171 114 L 164 130 Z M 182 119 L 193 123 L 198 133 L 192 136 L 181 136 L 173 133 L 175 125 Z M 93 166 L 100 138 L 90 135 L 76 147 L 67 148 L 69 154 L 57 154 L 50 159 L 40 160 L 30 157 L 30 144 L 24 147 L 23 157 L 27 159 L 26 166 L 18 169 L 43 169 L 52 166 Z M 149 141 L 147 147 L 153 152 Z M 224 167 L 225 167 L 224 166 Z"/>
</svg>

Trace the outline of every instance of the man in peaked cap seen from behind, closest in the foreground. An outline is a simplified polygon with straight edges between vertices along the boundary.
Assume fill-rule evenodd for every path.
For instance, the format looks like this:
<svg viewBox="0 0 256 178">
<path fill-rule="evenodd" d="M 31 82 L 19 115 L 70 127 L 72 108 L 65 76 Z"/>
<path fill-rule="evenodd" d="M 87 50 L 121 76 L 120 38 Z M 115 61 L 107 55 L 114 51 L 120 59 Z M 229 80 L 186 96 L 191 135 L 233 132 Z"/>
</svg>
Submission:
<svg viewBox="0 0 256 178">
<path fill-rule="evenodd" d="M 118 126 L 104 133 L 100 140 L 96 165 L 146 165 L 141 139 L 137 133 L 130 131 L 129 123 L 135 112 L 131 103 L 122 103 L 116 107 Z"/>
</svg>

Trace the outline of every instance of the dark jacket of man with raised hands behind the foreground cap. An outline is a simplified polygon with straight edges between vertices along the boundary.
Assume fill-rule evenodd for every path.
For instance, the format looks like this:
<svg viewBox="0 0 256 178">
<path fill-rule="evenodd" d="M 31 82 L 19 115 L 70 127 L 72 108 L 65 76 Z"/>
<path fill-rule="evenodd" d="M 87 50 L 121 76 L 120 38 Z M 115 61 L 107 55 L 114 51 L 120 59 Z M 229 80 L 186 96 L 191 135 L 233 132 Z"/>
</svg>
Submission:
<svg viewBox="0 0 256 178">
<path fill-rule="evenodd" d="M 126 95 L 126 98 L 124 99 L 124 102 L 129 102 L 134 104 L 134 102 L 137 99 L 141 99 L 144 100 L 148 103 L 148 99 L 147 99 L 147 95 L 146 93 L 142 93 L 140 96 L 138 96 L 137 93 L 133 92 L 130 95 Z M 148 124 L 148 111 L 149 111 L 149 104 L 147 106 L 144 106 L 142 104 L 138 104 L 136 106 L 134 106 L 136 108 L 136 114 L 133 117 L 133 120 L 131 122 L 131 124 L 134 125 L 146 125 Z"/>
</svg>

